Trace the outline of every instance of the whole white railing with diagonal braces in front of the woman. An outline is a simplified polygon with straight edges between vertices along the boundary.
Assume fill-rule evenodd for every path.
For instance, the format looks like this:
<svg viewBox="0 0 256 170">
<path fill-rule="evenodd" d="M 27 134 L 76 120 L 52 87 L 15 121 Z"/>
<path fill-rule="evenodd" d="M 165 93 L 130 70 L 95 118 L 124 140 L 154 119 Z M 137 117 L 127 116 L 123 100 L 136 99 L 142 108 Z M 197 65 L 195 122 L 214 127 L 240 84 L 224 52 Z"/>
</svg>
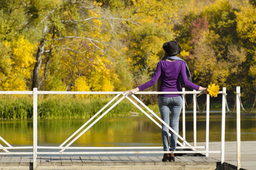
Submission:
<svg viewBox="0 0 256 170">
<path fill-rule="evenodd" d="M 240 89 L 239 89 L 240 90 Z M 174 132 L 175 135 L 178 136 L 178 139 L 181 140 L 181 142 L 178 141 L 178 145 L 180 145 L 181 147 L 177 147 L 177 149 L 184 149 L 186 148 L 186 150 L 184 151 L 174 151 L 174 153 L 202 153 L 202 154 L 206 154 L 206 157 L 208 157 L 208 154 L 210 153 L 218 153 L 220 154 L 220 161 L 223 164 L 225 161 L 225 96 L 226 94 L 226 89 L 225 87 L 223 87 L 223 91 L 219 91 L 220 94 L 222 94 L 222 120 L 221 120 L 221 148 L 219 151 L 210 151 L 209 149 L 209 125 L 210 125 L 210 96 L 209 94 L 206 95 L 206 146 L 197 146 L 196 145 L 196 95 L 200 94 L 200 91 L 185 91 L 185 89 L 183 89 L 183 91 L 179 91 L 179 92 L 156 92 L 156 91 L 140 91 L 137 92 L 137 94 L 182 94 L 183 96 L 187 95 L 187 94 L 191 94 L 193 95 L 193 145 L 191 145 L 190 143 L 188 143 L 186 141 L 186 107 L 185 107 L 185 101 L 183 100 L 183 109 L 182 109 L 182 117 L 183 117 L 183 137 L 181 137 L 181 135 L 178 135 L 178 133 L 176 133 L 169 125 L 166 125 L 166 123 L 164 123 L 163 120 L 161 120 L 161 118 L 159 118 L 158 115 L 156 115 L 156 113 L 154 113 L 153 111 L 151 111 L 150 108 L 148 108 L 144 103 L 142 103 L 142 101 L 139 100 L 139 98 L 137 98 L 136 96 L 132 95 L 132 98 L 137 101 L 137 103 L 141 104 L 141 106 L 143 106 L 144 108 L 146 108 L 147 111 L 149 111 L 149 113 L 151 113 L 151 115 L 154 115 L 154 118 L 156 118 L 157 120 L 159 120 L 161 123 L 163 123 L 164 125 L 166 125 L 169 130 L 171 130 L 171 132 Z M 121 102 L 124 98 L 127 98 L 130 102 L 132 102 L 134 104 L 134 106 L 136 106 L 140 111 L 142 111 L 142 113 L 144 113 L 150 120 L 152 120 L 154 123 L 156 123 L 156 125 L 159 126 L 159 128 L 161 128 L 161 125 L 154 119 L 151 117 L 151 115 L 149 115 L 148 113 L 146 113 L 146 111 L 144 111 L 137 103 L 135 103 L 131 97 L 125 96 L 125 93 L 123 91 L 114 91 L 114 92 L 110 92 L 110 91 L 38 91 L 36 88 L 33 89 L 33 91 L 0 91 L 0 94 L 33 94 L 33 146 L 30 147 L 13 147 L 11 146 L 8 142 L 6 142 L 6 140 L 4 140 L 1 136 L 0 136 L 0 140 L 2 142 L 4 142 L 5 145 L 7 145 L 6 147 L 4 147 L 3 145 L 0 144 L 0 149 L 2 149 L 4 152 L 0 152 L 0 155 L 4 155 L 4 154 L 15 154 L 15 155 L 33 155 L 33 169 L 36 169 L 36 157 L 40 154 L 40 155 L 44 155 L 44 154 L 60 154 L 60 155 L 64 155 L 64 154 L 69 154 L 69 155 L 73 155 L 73 154 L 159 154 L 159 153 L 169 153 L 169 152 L 164 152 L 161 151 L 162 147 L 70 147 L 70 145 L 73 144 L 73 142 L 75 142 L 75 140 L 78 140 L 78 138 L 84 134 L 87 130 L 89 130 L 93 125 L 95 125 L 95 123 L 97 123 L 97 121 L 99 121 L 104 115 L 106 115 L 112 108 L 114 108 L 114 106 L 117 106 L 117 104 L 119 102 Z M 89 120 L 87 120 L 87 122 L 82 125 L 76 132 L 73 133 L 73 135 L 71 135 L 67 140 L 65 140 L 65 142 L 63 142 L 60 146 L 58 147 L 44 147 L 44 146 L 38 146 L 38 94 L 115 94 L 116 96 L 114 96 L 114 98 L 112 98 L 112 100 L 107 103 L 102 109 L 100 109 L 100 111 L 98 111 L 95 115 L 92 116 L 92 118 L 90 118 Z M 237 93 L 237 95 L 240 95 L 240 92 Z M 122 96 L 121 98 L 119 98 L 119 96 Z M 117 98 L 119 98 L 117 100 Z M 117 101 L 116 101 L 117 100 Z M 112 104 L 114 101 L 116 101 L 114 104 Z M 239 100 L 237 99 L 237 103 L 239 103 Z M 110 106 L 112 104 L 112 106 Z M 102 111 L 105 110 L 105 108 L 107 108 L 107 106 L 110 106 L 110 108 L 107 109 L 107 111 L 105 111 L 104 113 L 102 113 Z M 237 111 L 239 112 L 238 114 L 240 115 L 240 110 Z M 100 113 L 102 113 L 100 115 Z M 98 115 L 100 115 L 96 120 L 94 120 Z M 92 120 L 94 120 L 92 122 Z M 92 122 L 92 123 L 91 123 Z M 87 127 L 86 127 L 87 126 Z M 86 127 L 86 128 L 85 128 Z M 85 129 L 84 129 L 85 128 Z M 81 132 L 82 130 L 82 132 Z M 170 135 L 170 134 L 169 134 Z M 10 152 L 9 150 L 11 149 L 33 149 L 33 151 L 31 152 Z M 41 149 L 46 149 L 46 150 L 52 150 L 52 149 L 58 149 L 58 152 L 42 152 L 40 151 Z M 72 150 L 78 150 L 78 152 L 67 152 L 66 150 L 68 149 L 72 149 Z M 92 149 L 92 151 L 88 152 L 86 151 L 82 151 L 85 149 Z M 126 149 L 126 151 L 111 151 L 111 152 L 99 152 L 97 151 L 98 149 Z M 134 151 L 127 151 L 127 149 L 134 149 Z M 142 150 L 142 149 L 148 149 L 147 151 L 139 151 L 138 149 Z M 149 149 L 159 149 L 159 151 L 149 151 Z M 188 150 L 190 149 L 190 150 Z M 203 149 L 203 150 L 198 150 L 198 149 Z M 95 151 L 96 150 L 96 151 Z"/>
</svg>

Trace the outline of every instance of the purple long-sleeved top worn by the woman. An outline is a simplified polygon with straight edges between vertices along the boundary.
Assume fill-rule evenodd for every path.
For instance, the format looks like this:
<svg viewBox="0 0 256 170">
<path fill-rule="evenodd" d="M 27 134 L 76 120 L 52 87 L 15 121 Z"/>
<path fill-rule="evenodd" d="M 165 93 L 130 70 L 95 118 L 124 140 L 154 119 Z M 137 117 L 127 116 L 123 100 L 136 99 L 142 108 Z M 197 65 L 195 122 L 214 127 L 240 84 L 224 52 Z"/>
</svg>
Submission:
<svg viewBox="0 0 256 170">
<path fill-rule="evenodd" d="M 139 86 L 139 91 L 149 88 L 156 84 L 156 81 L 161 76 L 161 84 L 159 91 L 182 91 L 181 81 L 183 84 L 190 88 L 198 90 L 200 86 L 193 84 L 191 81 L 188 81 L 186 75 L 186 64 L 182 61 L 173 61 L 169 62 L 166 60 L 161 60 L 156 66 L 156 72 L 151 80 L 147 81 L 142 86 Z M 180 94 L 163 94 L 164 97 L 175 97 L 181 96 Z"/>
</svg>

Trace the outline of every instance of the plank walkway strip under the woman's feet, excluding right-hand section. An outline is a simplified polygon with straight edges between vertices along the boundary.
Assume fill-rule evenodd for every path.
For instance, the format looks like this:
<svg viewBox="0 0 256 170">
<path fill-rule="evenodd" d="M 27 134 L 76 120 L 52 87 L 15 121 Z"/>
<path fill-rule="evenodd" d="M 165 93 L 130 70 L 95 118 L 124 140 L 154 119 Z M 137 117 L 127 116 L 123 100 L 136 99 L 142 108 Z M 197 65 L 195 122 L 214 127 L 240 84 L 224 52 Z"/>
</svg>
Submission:
<svg viewBox="0 0 256 170">
<path fill-rule="evenodd" d="M 176 157 L 176 162 L 162 162 L 162 157 L 38 157 L 38 169 L 216 169 L 210 157 Z M 1 157 L 1 170 L 32 169 L 31 157 Z"/>
</svg>

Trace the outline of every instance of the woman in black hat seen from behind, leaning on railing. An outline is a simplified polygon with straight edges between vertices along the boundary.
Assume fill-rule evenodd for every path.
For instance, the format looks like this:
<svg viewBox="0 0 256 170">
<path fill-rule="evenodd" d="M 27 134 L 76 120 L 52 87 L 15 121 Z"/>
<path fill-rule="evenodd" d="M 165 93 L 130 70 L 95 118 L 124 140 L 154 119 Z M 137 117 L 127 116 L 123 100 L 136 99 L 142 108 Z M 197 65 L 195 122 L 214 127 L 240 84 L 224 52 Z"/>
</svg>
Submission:
<svg viewBox="0 0 256 170">
<path fill-rule="evenodd" d="M 137 91 L 143 91 L 156 84 L 159 79 L 160 86 L 159 91 L 182 91 L 181 81 L 183 84 L 190 88 L 199 91 L 205 91 L 206 88 L 193 84 L 188 79 L 191 79 L 186 62 L 180 57 L 176 57 L 181 52 L 181 46 L 174 40 L 165 42 L 163 45 L 164 57 L 158 62 L 154 76 L 150 81 L 142 84 L 135 89 L 126 91 L 127 96 L 135 94 Z M 170 111 L 171 111 L 171 128 L 178 133 L 178 120 L 181 113 L 183 98 L 181 94 L 159 94 L 159 111 L 161 119 L 169 125 L 170 123 Z M 164 151 L 174 151 L 176 149 L 176 142 L 178 137 L 171 132 L 171 145 L 169 148 L 169 129 L 162 125 L 161 130 L 162 141 L 164 145 Z M 174 153 L 164 154 L 163 162 L 175 161 Z"/>
</svg>

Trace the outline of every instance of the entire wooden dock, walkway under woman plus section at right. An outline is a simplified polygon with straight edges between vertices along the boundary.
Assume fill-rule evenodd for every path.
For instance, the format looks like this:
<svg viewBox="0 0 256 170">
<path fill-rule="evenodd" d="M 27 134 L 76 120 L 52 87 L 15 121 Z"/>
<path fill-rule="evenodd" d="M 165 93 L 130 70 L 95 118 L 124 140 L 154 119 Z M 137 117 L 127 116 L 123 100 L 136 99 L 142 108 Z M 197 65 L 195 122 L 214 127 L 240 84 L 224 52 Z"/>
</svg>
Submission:
<svg viewBox="0 0 256 170">
<path fill-rule="evenodd" d="M 198 146 L 201 143 L 198 143 Z M 242 169 L 256 169 L 256 142 L 241 142 Z M 220 142 L 210 142 L 211 149 L 220 149 Z M 176 162 L 162 162 L 162 157 L 38 157 L 38 169 L 236 169 L 236 142 L 225 142 L 225 164 L 220 165 L 220 154 L 209 157 L 183 155 Z M 32 169 L 32 157 L 0 157 L 0 170 Z"/>
</svg>

